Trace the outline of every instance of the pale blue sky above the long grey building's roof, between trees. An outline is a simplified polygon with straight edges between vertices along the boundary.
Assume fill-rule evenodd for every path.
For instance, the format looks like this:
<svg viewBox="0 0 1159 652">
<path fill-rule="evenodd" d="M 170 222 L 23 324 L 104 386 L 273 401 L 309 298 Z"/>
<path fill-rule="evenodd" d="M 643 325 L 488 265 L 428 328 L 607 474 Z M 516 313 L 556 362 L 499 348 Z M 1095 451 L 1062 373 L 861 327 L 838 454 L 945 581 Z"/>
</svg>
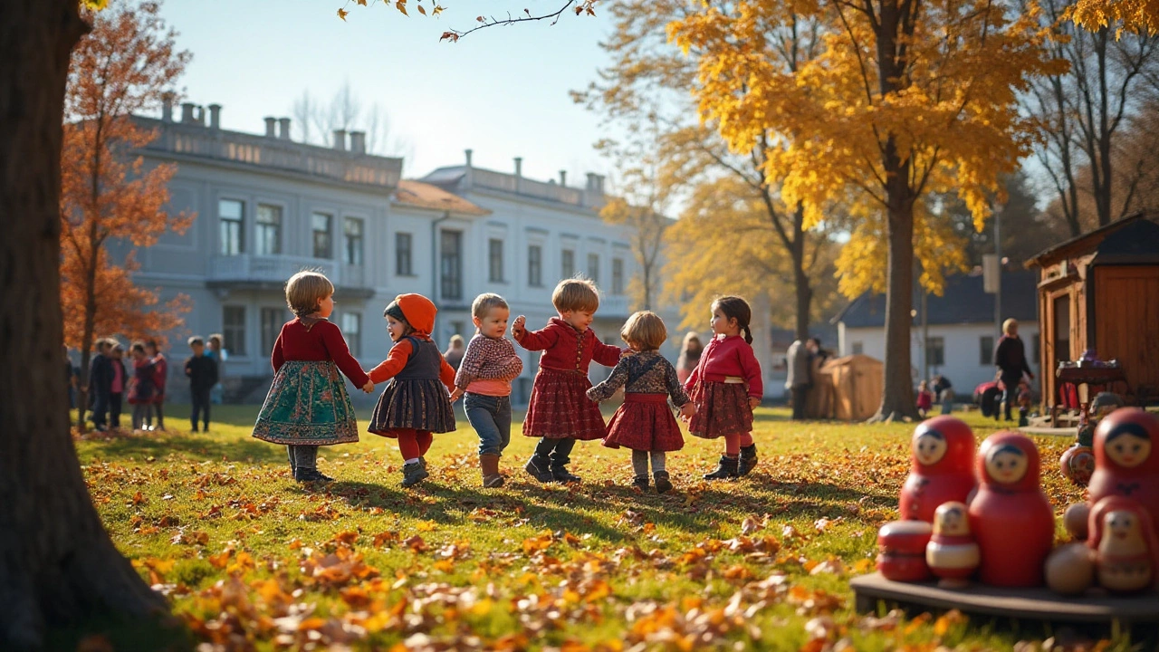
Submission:
<svg viewBox="0 0 1159 652">
<path fill-rule="evenodd" d="M 573 186 L 583 173 L 607 172 L 591 147 L 602 136 L 598 116 L 568 90 L 585 87 L 607 61 L 599 41 L 610 16 L 491 27 L 451 44 L 439 35 L 468 29 L 481 8 L 502 16 L 560 5 L 444 1 L 438 19 L 418 15 L 415 0 L 410 17 L 343 0 L 168 0 L 161 14 L 194 55 L 182 79 L 187 100 L 221 104 L 223 129 L 260 133 L 263 117 L 291 116 L 302 90 L 328 101 L 349 81 L 363 103 L 386 110 L 392 137 L 409 143 L 407 176 L 460 165 L 468 147 L 476 166 L 506 172 L 523 157 L 525 176 L 567 169 Z M 340 7 L 350 12 L 345 22 Z"/>
</svg>

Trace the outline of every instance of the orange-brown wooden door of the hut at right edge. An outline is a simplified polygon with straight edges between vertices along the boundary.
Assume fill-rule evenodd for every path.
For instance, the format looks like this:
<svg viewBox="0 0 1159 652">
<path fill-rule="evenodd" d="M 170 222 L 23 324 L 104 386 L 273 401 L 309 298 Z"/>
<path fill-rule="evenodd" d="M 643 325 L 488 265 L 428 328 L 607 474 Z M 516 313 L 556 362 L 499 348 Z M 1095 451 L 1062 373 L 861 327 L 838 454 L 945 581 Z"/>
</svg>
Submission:
<svg viewBox="0 0 1159 652">
<path fill-rule="evenodd" d="M 1123 365 L 1131 391 L 1159 386 L 1159 266 L 1095 267 L 1095 350 Z"/>
</svg>

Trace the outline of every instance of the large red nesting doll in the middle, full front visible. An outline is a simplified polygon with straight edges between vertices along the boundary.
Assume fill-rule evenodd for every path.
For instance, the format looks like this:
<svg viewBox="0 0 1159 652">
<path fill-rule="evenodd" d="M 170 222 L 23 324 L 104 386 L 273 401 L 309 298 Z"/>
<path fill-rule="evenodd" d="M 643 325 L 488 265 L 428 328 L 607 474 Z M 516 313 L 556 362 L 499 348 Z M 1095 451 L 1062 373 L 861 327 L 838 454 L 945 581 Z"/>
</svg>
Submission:
<svg viewBox="0 0 1159 652">
<path fill-rule="evenodd" d="M 981 484 L 969 514 L 983 584 L 1042 585 L 1042 564 L 1055 542 L 1055 513 L 1038 486 L 1041 468 L 1038 449 L 1023 435 L 998 433 L 982 442 Z"/>
</svg>

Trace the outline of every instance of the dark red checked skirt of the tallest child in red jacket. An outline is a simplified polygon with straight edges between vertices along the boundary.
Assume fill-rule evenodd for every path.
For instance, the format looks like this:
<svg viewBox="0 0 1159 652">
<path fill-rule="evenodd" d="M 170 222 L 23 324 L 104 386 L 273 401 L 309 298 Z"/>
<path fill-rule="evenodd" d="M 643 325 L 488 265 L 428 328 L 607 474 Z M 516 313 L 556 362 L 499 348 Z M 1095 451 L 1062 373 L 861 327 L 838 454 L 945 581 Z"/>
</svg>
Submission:
<svg viewBox="0 0 1159 652">
<path fill-rule="evenodd" d="M 531 386 L 523 434 L 549 440 L 600 440 L 607 434 L 599 405 L 588 398 L 584 374 L 539 368 Z"/>
</svg>

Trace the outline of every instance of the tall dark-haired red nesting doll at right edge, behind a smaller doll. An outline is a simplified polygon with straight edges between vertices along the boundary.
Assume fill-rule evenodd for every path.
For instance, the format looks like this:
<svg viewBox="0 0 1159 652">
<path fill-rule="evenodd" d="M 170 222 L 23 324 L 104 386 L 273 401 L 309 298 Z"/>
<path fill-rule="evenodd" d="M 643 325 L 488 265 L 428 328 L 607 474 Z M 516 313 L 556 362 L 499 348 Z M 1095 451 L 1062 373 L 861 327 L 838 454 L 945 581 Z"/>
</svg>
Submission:
<svg viewBox="0 0 1159 652">
<path fill-rule="evenodd" d="M 1094 473 L 1087 485 L 1094 506 L 1108 495 L 1138 502 L 1159 523 L 1159 455 L 1151 451 L 1159 439 L 1159 418 L 1136 407 L 1105 416 L 1094 430 Z"/>
</svg>

